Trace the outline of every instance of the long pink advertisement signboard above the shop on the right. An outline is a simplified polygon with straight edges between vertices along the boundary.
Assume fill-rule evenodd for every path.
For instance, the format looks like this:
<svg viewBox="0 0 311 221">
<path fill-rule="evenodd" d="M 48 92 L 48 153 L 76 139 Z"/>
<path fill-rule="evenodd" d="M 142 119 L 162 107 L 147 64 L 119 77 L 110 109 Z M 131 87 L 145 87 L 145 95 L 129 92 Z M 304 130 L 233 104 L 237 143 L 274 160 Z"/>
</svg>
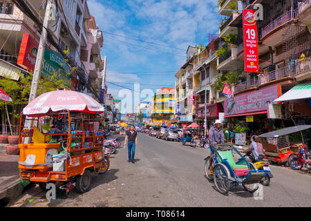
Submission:
<svg viewBox="0 0 311 221">
<path fill-rule="evenodd" d="M 267 104 L 278 98 L 279 86 L 272 86 L 225 100 L 225 116 L 267 111 Z"/>
</svg>

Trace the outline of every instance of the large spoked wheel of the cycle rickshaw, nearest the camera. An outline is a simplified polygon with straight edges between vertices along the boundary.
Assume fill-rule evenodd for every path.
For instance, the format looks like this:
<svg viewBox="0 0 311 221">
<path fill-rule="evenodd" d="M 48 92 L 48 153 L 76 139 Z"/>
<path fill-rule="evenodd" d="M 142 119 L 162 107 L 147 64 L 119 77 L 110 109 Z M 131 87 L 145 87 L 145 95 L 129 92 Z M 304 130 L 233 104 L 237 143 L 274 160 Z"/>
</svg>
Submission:
<svg viewBox="0 0 311 221">
<path fill-rule="evenodd" d="M 214 184 L 217 190 L 223 195 L 227 194 L 230 189 L 229 174 L 225 166 L 218 164 L 214 167 Z"/>
</svg>

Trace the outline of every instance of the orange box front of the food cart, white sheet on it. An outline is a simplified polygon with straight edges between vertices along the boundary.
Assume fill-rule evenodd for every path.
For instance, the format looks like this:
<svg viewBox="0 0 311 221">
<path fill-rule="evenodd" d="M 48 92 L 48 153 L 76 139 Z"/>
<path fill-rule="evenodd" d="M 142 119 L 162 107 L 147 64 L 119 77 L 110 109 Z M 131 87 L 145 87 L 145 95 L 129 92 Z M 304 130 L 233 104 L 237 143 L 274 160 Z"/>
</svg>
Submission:
<svg viewBox="0 0 311 221">
<path fill-rule="evenodd" d="M 45 164 L 47 153 L 57 154 L 59 146 L 60 144 L 19 144 L 19 162 L 29 165 L 19 163 L 19 169 L 50 171 L 52 169 L 50 166 L 35 165 Z"/>
</svg>

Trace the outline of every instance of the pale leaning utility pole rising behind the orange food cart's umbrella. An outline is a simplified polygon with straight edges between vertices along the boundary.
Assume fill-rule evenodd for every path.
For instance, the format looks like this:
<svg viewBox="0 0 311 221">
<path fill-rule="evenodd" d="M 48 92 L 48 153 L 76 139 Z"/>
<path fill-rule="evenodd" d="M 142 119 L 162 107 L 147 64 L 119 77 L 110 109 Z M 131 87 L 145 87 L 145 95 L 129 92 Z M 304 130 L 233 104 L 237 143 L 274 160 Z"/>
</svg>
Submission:
<svg viewBox="0 0 311 221">
<path fill-rule="evenodd" d="M 41 37 L 39 41 L 39 48 L 37 52 L 37 59 L 35 64 L 35 70 L 33 72 L 32 76 L 32 82 L 31 82 L 31 89 L 30 89 L 30 95 L 28 104 L 32 102 L 37 95 L 37 88 L 38 88 L 38 81 L 40 79 L 41 70 L 42 70 L 42 64 L 44 61 L 44 51 L 46 48 L 46 39 L 48 36 L 48 22 L 50 21 L 50 18 L 52 17 L 51 12 L 53 12 L 53 3 L 52 0 L 48 0 L 47 6 L 46 6 L 46 14 L 44 15 L 44 24 L 41 32 Z M 28 120 L 25 122 L 26 128 L 32 128 L 33 121 Z M 26 137 L 25 144 L 30 144 L 31 137 Z"/>
</svg>

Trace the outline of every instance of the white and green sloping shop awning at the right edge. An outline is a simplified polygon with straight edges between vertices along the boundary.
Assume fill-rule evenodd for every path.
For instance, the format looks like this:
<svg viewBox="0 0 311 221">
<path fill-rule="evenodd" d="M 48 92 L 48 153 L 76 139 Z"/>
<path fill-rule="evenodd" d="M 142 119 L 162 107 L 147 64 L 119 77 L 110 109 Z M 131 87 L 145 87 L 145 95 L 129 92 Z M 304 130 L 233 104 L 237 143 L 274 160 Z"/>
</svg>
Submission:
<svg viewBox="0 0 311 221">
<path fill-rule="evenodd" d="M 311 81 L 297 84 L 294 88 L 288 90 L 284 95 L 275 99 L 273 102 L 285 102 L 294 99 L 308 99 L 311 98 Z"/>
</svg>

